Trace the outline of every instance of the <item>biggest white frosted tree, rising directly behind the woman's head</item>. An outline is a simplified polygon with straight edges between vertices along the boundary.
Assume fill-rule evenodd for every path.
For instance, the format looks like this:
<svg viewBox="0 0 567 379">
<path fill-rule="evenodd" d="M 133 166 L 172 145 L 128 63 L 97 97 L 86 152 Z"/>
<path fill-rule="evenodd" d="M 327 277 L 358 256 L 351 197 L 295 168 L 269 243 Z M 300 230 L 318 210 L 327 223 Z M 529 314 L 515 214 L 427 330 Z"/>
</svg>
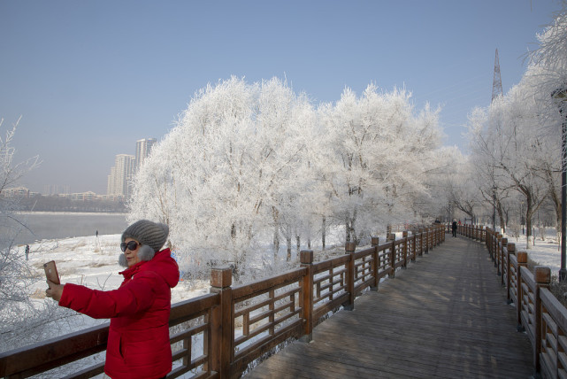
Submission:
<svg viewBox="0 0 567 379">
<path fill-rule="evenodd" d="M 296 223 L 310 112 L 278 79 L 207 86 L 136 175 L 131 217 L 167 222 L 191 265 L 241 273 L 259 236 Z"/>
</svg>

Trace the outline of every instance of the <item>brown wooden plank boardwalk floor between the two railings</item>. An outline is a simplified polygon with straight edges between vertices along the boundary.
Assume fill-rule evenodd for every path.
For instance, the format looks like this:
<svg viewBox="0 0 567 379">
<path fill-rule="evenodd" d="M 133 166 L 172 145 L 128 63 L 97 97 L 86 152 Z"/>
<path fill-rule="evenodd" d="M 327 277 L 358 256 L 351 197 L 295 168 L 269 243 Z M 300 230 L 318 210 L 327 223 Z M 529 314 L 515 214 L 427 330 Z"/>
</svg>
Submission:
<svg viewBox="0 0 567 379">
<path fill-rule="evenodd" d="M 530 378 L 532 347 L 486 246 L 446 242 L 246 378 Z"/>
</svg>

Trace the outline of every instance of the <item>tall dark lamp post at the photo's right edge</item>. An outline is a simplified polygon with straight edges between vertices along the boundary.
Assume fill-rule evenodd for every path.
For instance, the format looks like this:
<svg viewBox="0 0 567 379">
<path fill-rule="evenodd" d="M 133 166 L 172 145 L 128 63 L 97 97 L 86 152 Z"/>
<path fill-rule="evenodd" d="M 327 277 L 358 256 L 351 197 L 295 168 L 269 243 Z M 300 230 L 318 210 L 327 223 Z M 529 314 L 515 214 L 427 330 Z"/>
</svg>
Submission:
<svg viewBox="0 0 567 379">
<path fill-rule="evenodd" d="M 556 100 L 559 106 L 559 113 L 563 116 L 563 102 L 567 100 L 567 86 L 556 89 L 551 93 L 551 97 Z M 567 114 L 565 114 L 567 117 Z M 567 119 L 563 118 L 561 121 L 561 268 L 559 269 L 559 281 L 563 282 L 567 278 L 567 270 L 565 269 L 565 229 L 566 229 L 566 206 L 565 200 L 567 199 L 567 174 L 566 174 L 566 161 L 567 161 Z"/>
</svg>

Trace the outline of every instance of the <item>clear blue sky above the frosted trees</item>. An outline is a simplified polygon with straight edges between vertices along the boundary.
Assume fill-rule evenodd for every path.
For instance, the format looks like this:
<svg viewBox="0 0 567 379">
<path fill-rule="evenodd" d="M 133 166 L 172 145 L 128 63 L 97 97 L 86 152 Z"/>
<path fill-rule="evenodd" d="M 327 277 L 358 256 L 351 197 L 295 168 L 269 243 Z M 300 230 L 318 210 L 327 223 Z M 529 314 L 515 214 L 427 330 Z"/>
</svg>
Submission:
<svg viewBox="0 0 567 379">
<path fill-rule="evenodd" d="M 22 117 L 21 183 L 106 192 L 114 157 L 161 139 L 195 91 L 231 75 L 287 78 L 314 104 L 370 82 L 441 105 L 444 144 L 465 149 L 467 113 L 506 92 L 557 0 L 0 0 L 0 118 Z M 3 132 L 4 133 L 4 132 Z M 4 136 L 3 136 L 4 137 Z"/>
</svg>

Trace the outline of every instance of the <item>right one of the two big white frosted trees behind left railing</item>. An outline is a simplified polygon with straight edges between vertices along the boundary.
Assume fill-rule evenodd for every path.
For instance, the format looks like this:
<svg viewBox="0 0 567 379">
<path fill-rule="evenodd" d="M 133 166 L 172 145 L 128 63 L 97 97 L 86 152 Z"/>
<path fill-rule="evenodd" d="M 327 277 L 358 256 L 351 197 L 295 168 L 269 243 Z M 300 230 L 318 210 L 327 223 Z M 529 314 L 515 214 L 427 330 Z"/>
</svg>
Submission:
<svg viewBox="0 0 567 379">
<path fill-rule="evenodd" d="M 408 92 L 380 93 L 374 84 L 361 97 L 345 89 L 321 112 L 330 153 L 326 180 L 346 240 L 357 242 L 372 227 L 413 218 L 441 141 L 437 112 L 425 107 L 416 116 Z"/>
</svg>

